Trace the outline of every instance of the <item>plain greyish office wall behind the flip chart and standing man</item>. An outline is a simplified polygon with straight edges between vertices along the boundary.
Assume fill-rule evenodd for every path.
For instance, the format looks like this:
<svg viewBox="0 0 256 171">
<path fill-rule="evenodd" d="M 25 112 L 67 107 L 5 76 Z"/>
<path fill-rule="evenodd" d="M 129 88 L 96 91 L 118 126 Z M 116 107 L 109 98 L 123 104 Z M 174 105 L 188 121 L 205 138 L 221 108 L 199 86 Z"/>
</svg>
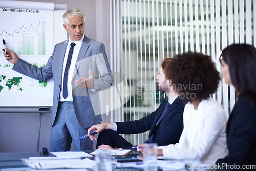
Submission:
<svg viewBox="0 0 256 171">
<path fill-rule="evenodd" d="M 27 0 L 23 0 L 27 1 Z M 84 34 L 101 41 L 108 49 L 108 1 L 106 0 L 28 0 L 67 4 L 68 9 L 79 8 L 86 14 Z M 62 20 L 62 18 L 60 18 Z M 108 53 L 108 52 L 107 52 Z M 110 60 L 110 59 L 109 59 Z M 15 101 L 11 102 L 14 103 Z M 12 111 L 13 109 L 9 109 Z M 0 113 L 0 153 L 36 152 L 39 114 L 38 113 Z M 42 147 L 50 149 L 51 113 L 41 118 L 39 151 Z M 72 145 L 71 150 L 75 150 Z"/>
</svg>

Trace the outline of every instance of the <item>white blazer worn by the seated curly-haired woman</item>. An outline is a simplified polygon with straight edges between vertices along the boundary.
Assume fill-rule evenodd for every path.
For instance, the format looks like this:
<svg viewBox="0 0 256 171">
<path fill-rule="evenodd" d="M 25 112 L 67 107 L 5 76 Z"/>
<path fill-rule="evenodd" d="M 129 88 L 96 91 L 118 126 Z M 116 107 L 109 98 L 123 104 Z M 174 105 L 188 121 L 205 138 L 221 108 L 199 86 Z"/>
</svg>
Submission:
<svg viewBox="0 0 256 171">
<path fill-rule="evenodd" d="M 183 113 L 184 129 L 179 143 L 159 146 L 163 157 L 169 159 L 195 159 L 202 163 L 215 164 L 228 154 L 226 143 L 226 115 L 222 106 L 208 98 L 199 103 L 194 127 L 188 127 L 194 105 L 187 103 Z M 187 143 L 187 130 L 193 129 Z M 191 133 L 191 131 L 190 131 Z"/>
</svg>

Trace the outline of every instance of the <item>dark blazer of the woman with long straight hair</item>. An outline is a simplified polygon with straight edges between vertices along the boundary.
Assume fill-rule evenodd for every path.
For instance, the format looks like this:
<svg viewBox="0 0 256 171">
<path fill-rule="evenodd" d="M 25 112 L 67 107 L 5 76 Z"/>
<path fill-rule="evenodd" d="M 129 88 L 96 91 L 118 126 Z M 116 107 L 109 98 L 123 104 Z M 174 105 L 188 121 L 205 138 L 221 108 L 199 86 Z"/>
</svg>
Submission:
<svg viewBox="0 0 256 171">
<path fill-rule="evenodd" d="M 228 156 L 217 164 L 256 164 L 256 105 L 247 96 L 238 99 L 228 119 L 227 147 Z"/>
</svg>

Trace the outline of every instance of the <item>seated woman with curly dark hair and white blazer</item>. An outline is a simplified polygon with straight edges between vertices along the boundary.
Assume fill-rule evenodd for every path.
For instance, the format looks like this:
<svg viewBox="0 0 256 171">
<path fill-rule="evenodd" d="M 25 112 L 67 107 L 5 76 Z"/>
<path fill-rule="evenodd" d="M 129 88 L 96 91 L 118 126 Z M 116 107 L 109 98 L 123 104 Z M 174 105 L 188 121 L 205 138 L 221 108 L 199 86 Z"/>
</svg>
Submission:
<svg viewBox="0 0 256 171">
<path fill-rule="evenodd" d="M 222 106 L 210 97 L 218 89 L 220 73 L 210 56 L 196 52 L 176 55 L 167 70 L 166 77 L 186 104 L 184 129 L 179 143 L 159 146 L 158 155 L 215 164 L 227 155 L 226 116 Z M 138 145 L 138 151 L 142 151 L 140 146 L 143 144 Z"/>
</svg>

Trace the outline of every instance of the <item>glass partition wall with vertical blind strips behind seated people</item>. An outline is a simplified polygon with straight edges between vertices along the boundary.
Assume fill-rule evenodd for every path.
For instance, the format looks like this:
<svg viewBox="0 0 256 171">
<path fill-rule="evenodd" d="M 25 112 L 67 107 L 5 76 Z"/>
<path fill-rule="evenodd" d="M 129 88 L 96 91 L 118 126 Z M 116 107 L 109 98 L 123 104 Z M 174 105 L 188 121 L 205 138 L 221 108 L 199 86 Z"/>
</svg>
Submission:
<svg viewBox="0 0 256 171">
<path fill-rule="evenodd" d="M 156 76 L 164 58 L 202 52 L 212 56 L 221 72 L 223 48 L 255 44 L 255 15 L 256 2 L 250 0 L 110 0 L 111 67 L 127 80 L 120 87 L 127 102 L 111 112 L 110 120 L 137 120 L 158 108 L 165 94 L 158 91 Z M 236 102 L 234 89 L 222 79 L 213 97 L 228 117 Z M 147 136 L 148 132 L 123 135 L 133 144 L 143 143 Z"/>
</svg>

